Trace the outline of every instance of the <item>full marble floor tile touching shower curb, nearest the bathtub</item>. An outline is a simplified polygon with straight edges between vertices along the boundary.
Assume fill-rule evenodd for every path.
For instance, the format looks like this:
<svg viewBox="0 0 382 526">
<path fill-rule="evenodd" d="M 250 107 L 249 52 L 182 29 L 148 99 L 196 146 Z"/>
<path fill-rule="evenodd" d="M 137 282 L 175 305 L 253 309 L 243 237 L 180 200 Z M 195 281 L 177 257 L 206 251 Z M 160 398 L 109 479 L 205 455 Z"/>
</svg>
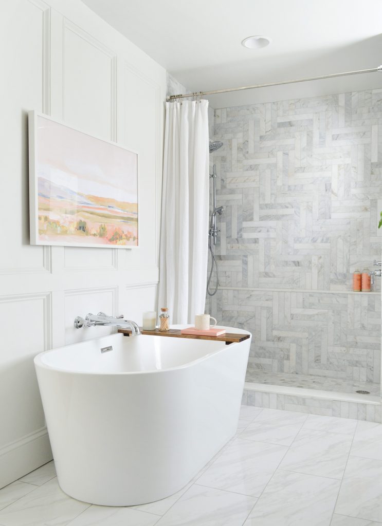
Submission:
<svg viewBox="0 0 382 526">
<path fill-rule="evenodd" d="M 306 414 L 263 409 L 240 434 L 240 438 L 290 446 L 306 419 Z"/>
</svg>

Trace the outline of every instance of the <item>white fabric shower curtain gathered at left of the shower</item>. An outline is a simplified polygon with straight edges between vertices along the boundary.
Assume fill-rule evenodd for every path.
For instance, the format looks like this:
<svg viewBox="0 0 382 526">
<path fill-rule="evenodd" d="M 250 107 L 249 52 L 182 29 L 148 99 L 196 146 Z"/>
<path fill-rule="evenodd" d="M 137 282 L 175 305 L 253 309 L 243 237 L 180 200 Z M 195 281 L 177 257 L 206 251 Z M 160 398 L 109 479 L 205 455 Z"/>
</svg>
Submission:
<svg viewBox="0 0 382 526">
<path fill-rule="evenodd" d="M 193 323 L 206 299 L 208 101 L 166 103 L 158 308 Z"/>
</svg>

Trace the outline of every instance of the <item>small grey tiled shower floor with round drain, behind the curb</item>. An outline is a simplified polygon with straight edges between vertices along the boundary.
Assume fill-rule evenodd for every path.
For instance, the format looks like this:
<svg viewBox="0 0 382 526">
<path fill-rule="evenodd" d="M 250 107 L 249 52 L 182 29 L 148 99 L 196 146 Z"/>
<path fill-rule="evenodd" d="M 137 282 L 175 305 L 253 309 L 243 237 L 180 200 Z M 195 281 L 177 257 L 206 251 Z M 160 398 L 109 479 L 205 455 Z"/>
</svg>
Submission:
<svg viewBox="0 0 382 526">
<path fill-rule="evenodd" d="M 319 389 L 321 391 L 336 391 L 343 393 L 354 393 L 362 390 L 369 391 L 372 396 L 380 396 L 379 383 L 341 380 L 340 378 L 326 378 L 317 375 L 296 375 L 283 372 L 247 369 L 245 381 L 265 383 L 266 385 Z"/>
</svg>

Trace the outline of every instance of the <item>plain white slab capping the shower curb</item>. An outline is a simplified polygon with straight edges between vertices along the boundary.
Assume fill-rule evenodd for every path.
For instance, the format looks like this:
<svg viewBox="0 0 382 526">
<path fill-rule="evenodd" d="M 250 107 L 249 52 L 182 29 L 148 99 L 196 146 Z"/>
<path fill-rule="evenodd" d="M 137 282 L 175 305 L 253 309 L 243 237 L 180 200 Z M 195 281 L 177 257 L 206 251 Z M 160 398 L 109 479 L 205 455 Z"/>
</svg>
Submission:
<svg viewBox="0 0 382 526">
<path fill-rule="evenodd" d="M 255 382 L 245 382 L 244 389 L 247 391 L 276 393 L 277 395 L 291 395 L 301 398 L 314 398 L 317 400 L 336 400 L 340 402 L 365 403 L 370 404 L 371 406 L 381 405 L 381 397 L 373 395 L 358 395 L 358 393 L 305 389 L 302 387 L 277 386 L 268 383 Z"/>
</svg>

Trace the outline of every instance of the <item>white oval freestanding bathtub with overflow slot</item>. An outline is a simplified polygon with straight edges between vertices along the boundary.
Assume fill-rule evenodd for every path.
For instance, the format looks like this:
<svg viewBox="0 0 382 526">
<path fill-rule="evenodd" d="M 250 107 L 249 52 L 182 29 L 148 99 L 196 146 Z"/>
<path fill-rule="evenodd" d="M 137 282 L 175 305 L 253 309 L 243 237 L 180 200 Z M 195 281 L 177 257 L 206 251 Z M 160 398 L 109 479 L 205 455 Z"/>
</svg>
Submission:
<svg viewBox="0 0 382 526">
<path fill-rule="evenodd" d="M 119 333 L 36 356 L 62 490 L 127 506 L 183 488 L 235 434 L 249 345 Z"/>
</svg>

